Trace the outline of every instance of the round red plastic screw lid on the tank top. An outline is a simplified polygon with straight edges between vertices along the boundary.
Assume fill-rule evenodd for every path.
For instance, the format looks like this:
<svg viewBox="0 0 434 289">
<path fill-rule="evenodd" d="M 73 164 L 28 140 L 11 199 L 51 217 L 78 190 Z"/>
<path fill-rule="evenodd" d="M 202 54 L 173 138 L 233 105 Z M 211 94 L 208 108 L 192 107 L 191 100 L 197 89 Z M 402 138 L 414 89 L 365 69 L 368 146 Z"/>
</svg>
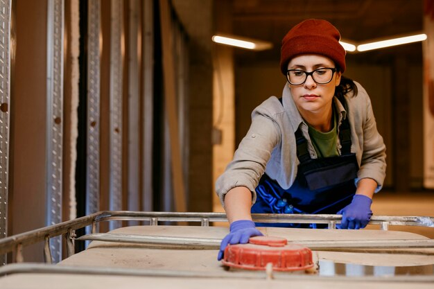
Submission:
<svg viewBox="0 0 434 289">
<path fill-rule="evenodd" d="M 252 237 L 248 244 L 228 245 L 222 263 L 246 270 L 266 270 L 268 263 L 272 263 L 272 269 L 276 271 L 313 268 L 311 249 L 287 243 L 279 237 Z"/>
</svg>

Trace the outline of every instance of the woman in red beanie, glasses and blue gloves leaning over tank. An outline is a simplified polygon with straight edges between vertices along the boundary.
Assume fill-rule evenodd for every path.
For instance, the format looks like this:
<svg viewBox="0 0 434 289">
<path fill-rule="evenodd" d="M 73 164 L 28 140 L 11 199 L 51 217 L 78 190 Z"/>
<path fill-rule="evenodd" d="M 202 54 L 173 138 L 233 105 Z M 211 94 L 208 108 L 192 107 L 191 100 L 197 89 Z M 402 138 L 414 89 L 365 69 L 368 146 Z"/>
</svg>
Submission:
<svg viewBox="0 0 434 289">
<path fill-rule="evenodd" d="M 385 145 L 365 89 L 342 76 L 339 40 L 339 31 L 318 19 L 282 40 L 282 97 L 252 112 L 248 134 L 216 182 L 230 223 L 218 260 L 227 244 L 262 235 L 251 213 L 338 213 L 342 229 L 370 221 L 385 178 Z"/>
</svg>

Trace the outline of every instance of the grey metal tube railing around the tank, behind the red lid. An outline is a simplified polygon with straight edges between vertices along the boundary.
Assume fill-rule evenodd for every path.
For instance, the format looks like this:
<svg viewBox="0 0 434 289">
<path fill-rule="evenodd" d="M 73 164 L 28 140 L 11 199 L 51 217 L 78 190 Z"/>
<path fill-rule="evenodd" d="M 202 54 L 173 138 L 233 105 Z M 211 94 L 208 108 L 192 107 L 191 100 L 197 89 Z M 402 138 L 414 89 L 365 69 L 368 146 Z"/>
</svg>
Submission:
<svg viewBox="0 0 434 289">
<path fill-rule="evenodd" d="M 316 223 L 328 224 L 334 229 L 342 220 L 341 215 L 303 215 L 303 214 L 252 214 L 257 222 L 277 223 Z M 202 226 L 209 226 L 209 222 L 227 222 L 225 213 L 191 213 L 191 212 L 137 212 L 137 211 L 100 211 L 75 220 L 61 222 L 56 225 L 35 229 L 0 239 L 0 254 L 16 253 L 17 262 L 24 261 L 22 248 L 37 242 L 47 242 L 55 236 L 65 236 L 68 256 L 74 254 L 73 239 L 75 230 L 92 225 L 92 233 L 96 232 L 96 223 L 111 220 L 141 220 L 150 225 L 158 222 L 200 222 Z M 434 217 L 426 216 L 372 216 L 370 224 L 380 225 L 381 229 L 388 229 L 390 225 L 434 227 Z M 44 247 L 44 256 L 49 259 L 49 247 Z"/>
</svg>

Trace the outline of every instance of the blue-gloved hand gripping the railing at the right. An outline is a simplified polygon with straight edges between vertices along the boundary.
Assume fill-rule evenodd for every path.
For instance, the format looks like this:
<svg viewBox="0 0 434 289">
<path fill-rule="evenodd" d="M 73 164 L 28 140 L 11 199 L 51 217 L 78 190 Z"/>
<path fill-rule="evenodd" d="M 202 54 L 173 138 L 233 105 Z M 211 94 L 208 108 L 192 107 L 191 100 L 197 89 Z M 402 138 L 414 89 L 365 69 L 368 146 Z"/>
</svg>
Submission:
<svg viewBox="0 0 434 289">
<path fill-rule="evenodd" d="M 342 215 L 342 222 L 336 228 L 362 229 L 366 227 L 372 216 L 371 204 L 371 198 L 365 195 L 354 195 L 351 204 L 338 211 L 338 215 Z"/>
</svg>

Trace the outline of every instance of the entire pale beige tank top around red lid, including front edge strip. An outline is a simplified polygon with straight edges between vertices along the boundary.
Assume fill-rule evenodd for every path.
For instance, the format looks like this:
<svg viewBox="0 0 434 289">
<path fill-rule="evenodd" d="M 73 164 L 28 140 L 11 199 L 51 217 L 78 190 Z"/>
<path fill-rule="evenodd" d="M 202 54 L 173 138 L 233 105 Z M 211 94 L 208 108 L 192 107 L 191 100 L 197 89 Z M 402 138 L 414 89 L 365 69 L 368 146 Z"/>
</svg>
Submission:
<svg viewBox="0 0 434 289">
<path fill-rule="evenodd" d="M 284 229 L 260 228 L 264 234 L 281 236 L 288 240 L 392 240 L 425 239 L 424 236 L 399 231 L 376 230 L 327 230 L 327 229 Z M 182 227 L 182 226 L 134 226 L 115 229 L 118 234 L 144 234 L 155 236 L 184 236 L 221 239 L 227 234 L 225 227 Z M 414 250 L 413 250 L 414 251 Z M 428 253 L 428 254 L 427 254 Z M 408 266 L 433 264 L 432 252 L 314 252 L 315 259 L 333 260 L 342 269 L 342 263 L 356 263 L 381 266 Z M 286 288 L 288 282 L 295 288 L 433 288 L 431 279 L 406 276 L 376 278 L 367 277 L 323 277 L 304 272 L 275 274 L 275 279 L 266 279 L 265 272 L 249 272 L 248 277 L 240 277 L 239 271 L 227 270 L 216 260 L 216 249 L 163 249 L 145 245 L 107 243 L 94 241 L 78 254 L 65 259 L 58 266 L 78 268 L 117 268 L 119 270 L 150 270 L 152 277 L 119 276 L 116 274 L 10 274 L 0 278 L 0 288 Z M 57 267 L 57 266 L 55 266 Z M 345 265 L 344 265 L 345 268 Z M 397 269 L 399 270 L 399 269 Z M 157 277 L 154 272 L 189 272 L 194 277 Z M 130 272 L 130 271 L 128 271 Z M 337 272 L 337 271 L 336 271 Z M 243 272 L 243 274 L 246 274 Z M 243 275 L 244 276 L 244 275 Z M 247 275 L 246 275 L 247 276 Z M 426 276 L 428 277 L 428 276 Z"/>
</svg>

